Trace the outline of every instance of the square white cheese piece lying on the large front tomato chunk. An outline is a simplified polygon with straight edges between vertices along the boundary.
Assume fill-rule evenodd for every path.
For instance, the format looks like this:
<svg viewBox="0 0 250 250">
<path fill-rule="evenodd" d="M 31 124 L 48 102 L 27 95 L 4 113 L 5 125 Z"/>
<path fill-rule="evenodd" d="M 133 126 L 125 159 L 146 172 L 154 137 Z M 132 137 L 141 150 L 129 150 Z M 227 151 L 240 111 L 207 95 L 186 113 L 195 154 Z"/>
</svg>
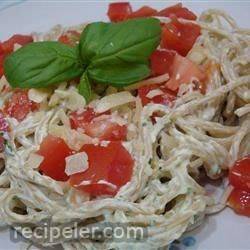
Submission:
<svg viewBox="0 0 250 250">
<path fill-rule="evenodd" d="M 65 158 L 65 173 L 70 176 L 76 173 L 82 173 L 89 167 L 88 155 L 85 152 L 77 153 Z"/>
</svg>

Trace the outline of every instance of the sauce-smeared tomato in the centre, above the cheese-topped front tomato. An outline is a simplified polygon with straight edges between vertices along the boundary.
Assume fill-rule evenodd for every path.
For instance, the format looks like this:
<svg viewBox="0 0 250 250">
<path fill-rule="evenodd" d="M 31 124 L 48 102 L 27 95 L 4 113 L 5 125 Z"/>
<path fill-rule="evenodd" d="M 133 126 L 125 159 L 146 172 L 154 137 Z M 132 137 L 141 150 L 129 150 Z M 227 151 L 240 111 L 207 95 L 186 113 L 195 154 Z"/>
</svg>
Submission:
<svg viewBox="0 0 250 250">
<path fill-rule="evenodd" d="M 93 109 L 88 108 L 83 112 L 70 114 L 71 127 L 82 128 L 84 132 L 93 137 L 105 141 L 126 140 L 127 127 L 112 121 L 111 115 L 96 114 Z"/>
</svg>

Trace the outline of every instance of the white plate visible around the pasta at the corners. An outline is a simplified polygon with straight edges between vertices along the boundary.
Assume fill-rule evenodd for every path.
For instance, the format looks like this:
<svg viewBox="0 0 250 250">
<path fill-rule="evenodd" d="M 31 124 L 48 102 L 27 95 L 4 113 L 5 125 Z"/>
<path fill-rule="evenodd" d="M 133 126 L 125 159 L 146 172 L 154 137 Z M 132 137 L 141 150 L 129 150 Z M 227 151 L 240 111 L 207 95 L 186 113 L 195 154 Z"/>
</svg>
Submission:
<svg viewBox="0 0 250 250">
<path fill-rule="evenodd" d="M 164 8 L 175 2 L 131 1 L 134 8 L 150 5 Z M 185 5 L 196 13 L 208 8 L 220 8 L 230 13 L 242 27 L 249 26 L 248 1 L 189 1 Z M 0 40 L 14 33 L 46 31 L 55 24 L 74 25 L 82 22 L 106 20 L 107 1 L 3 1 L 0 0 Z M 209 217 L 196 232 L 189 233 L 172 249 L 250 249 L 250 219 L 226 209 Z M 188 246 L 190 245 L 190 246 Z M 0 233 L 0 249 L 17 249 L 9 239 L 9 232 Z"/>
</svg>

